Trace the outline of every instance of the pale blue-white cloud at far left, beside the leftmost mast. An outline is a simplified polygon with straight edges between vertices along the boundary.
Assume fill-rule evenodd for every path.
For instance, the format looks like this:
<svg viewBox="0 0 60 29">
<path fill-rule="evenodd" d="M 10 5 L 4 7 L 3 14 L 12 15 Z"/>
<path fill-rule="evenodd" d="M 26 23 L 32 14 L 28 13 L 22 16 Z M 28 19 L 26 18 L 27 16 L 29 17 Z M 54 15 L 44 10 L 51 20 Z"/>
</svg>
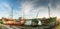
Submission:
<svg viewBox="0 0 60 29">
<path fill-rule="evenodd" d="M 0 4 L 0 18 L 1 17 L 10 17 L 10 11 L 11 11 L 11 7 L 8 3 L 1 3 Z"/>
</svg>

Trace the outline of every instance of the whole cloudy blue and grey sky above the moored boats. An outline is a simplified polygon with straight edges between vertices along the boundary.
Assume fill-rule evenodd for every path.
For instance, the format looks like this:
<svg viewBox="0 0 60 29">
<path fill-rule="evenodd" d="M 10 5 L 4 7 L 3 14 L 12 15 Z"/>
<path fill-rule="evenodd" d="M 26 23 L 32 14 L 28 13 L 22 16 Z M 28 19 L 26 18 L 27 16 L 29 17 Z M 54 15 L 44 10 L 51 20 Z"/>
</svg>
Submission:
<svg viewBox="0 0 60 29">
<path fill-rule="evenodd" d="M 50 16 L 60 18 L 60 0 L 0 0 L 0 18 L 48 18 L 48 6 Z"/>
</svg>

